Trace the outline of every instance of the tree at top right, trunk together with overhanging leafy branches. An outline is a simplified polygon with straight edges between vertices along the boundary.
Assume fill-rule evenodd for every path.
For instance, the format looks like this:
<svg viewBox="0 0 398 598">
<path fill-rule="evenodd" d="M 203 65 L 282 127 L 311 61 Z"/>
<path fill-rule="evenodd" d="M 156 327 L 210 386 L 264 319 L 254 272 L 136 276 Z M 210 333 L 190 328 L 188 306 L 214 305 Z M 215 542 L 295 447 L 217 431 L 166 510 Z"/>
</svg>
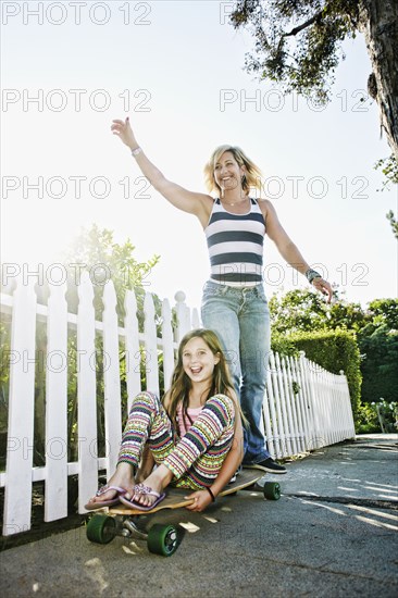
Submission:
<svg viewBox="0 0 398 598">
<path fill-rule="evenodd" d="M 368 91 L 398 158 L 397 0 L 238 0 L 231 22 L 253 33 L 249 72 L 321 103 L 329 99 L 334 72 L 345 58 L 344 39 L 363 34 L 372 65 Z"/>
</svg>

